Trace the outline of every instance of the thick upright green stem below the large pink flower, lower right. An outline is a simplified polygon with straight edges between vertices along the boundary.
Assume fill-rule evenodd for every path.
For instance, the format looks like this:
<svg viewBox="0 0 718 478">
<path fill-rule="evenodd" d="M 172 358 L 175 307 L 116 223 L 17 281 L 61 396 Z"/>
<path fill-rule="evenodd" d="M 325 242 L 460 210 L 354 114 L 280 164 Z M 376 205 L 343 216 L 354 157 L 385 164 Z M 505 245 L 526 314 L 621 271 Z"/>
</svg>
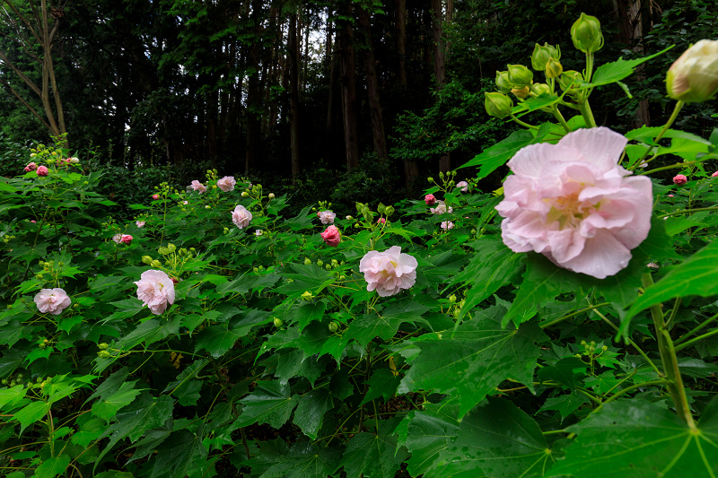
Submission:
<svg viewBox="0 0 718 478">
<path fill-rule="evenodd" d="M 644 289 L 648 289 L 648 287 L 653 284 L 651 274 L 643 274 L 642 282 Z M 686 389 L 683 387 L 683 378 L 680 377 L 676 349 L 673 346 L 673 341 L 670 339 L 670 333 L 666 328 L 661 304 L 651 306 L 651 315 L 653 317 L 653 325 L 656 328 L 658 349 L 661 352 L 661 361 L 663 362 L 663 372 L 669 379 L 668 389 L 670 397 L 673 399 L 673 404 L 676 405 L 676 411 L 679 413 L 680 419 L 686 422 L 689 428 L 695 429 L 696 423 L 693 422 L 693 415 L 690 413 Z"/>
</svg>

